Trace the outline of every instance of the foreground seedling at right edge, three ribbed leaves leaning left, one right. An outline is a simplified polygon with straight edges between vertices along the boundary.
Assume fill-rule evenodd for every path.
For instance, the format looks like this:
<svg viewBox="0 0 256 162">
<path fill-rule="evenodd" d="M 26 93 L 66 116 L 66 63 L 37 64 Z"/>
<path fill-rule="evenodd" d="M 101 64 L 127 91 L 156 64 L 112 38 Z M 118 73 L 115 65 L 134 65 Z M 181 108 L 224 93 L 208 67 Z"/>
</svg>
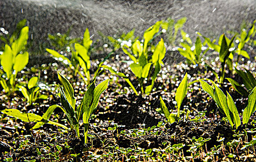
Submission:
<svg viewBox="0 0 256 162">
<path fill-rule="evenodd" d="M 237 107 L 231 97 L 231 95 L 227 93 L 227 96 L 223 93 L 223 91 L 216 85 L 214 84 L 214 89 L 212 86 L 210 86 L 206 81 L 200 80 L 202 88 L 212 97 L 212 99 L 215 101 L 217 104 L 219 111 L 223 113 L 231 127 L 234 125 L 236 126 L 236 129 L 239 125 L 241 125 L 240 117 L 237 111 Z M 248 99 L 248 105 L 244 109 L 243 112 L 243 124 L 247 124 L 250 116 L 252 115 L 253 112 L 256 111 L 256 87 L 253 88 L 252 92 L 249 95 Z"/>
</svg>

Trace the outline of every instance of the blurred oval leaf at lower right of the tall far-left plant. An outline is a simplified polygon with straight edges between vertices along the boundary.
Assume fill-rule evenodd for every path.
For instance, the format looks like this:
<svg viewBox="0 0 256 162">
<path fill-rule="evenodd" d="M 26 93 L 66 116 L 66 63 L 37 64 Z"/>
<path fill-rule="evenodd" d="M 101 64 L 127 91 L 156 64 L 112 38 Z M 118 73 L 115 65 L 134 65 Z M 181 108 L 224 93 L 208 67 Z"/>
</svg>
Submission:
<svg viewBox="0 0 256 162">
<path fill-rule="evenodd" d="M 15 57 L 13 69 L 16 70 L 16 73 L 25 68 L 28 64 L 29 54 L 24 52 L 24 54 L 19 54 Z"/>
</svg>

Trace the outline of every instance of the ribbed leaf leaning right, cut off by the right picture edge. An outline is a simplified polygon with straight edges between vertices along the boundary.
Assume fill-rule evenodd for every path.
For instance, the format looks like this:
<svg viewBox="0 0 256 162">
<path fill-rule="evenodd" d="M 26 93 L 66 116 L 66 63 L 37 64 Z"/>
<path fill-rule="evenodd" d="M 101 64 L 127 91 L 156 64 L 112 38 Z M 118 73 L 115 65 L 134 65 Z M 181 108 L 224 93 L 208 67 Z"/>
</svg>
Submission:
<svg viewBox="0 0 256 162">
<path fill-rule="evenodd" d="M 248 105 L 243 112 L 243 124 L 247 124 L 253 112 L 256 111 L 256 87 L 253 88 L 248 97 Z"/>
</svg>

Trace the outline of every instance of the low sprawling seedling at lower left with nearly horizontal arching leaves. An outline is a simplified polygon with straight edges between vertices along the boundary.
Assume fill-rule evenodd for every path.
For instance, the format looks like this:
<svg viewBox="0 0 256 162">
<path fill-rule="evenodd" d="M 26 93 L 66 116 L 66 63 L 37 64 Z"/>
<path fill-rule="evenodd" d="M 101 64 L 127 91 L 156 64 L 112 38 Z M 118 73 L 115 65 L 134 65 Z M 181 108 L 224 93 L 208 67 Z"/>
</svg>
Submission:
<svg viewBox="0 0 256 162">
<path fill-rule="evenodd" d="M 68 127 L 66 127 L 65 125 L 50 121 L 49 118 L 52 115 L 52 112 L 57 108 L 61 108 L 58 105 L 53 105 L 50 106 L 47 111 L 44 113 L 43 116 L 34 114 L 34 113 L 24 113 L 21 112 L 17 109 L 5 109 L 2 110 L 1 112 L 5 113 L 8 116 L 12 116 L 14 118 L 19 118 L 20 120 L 22 120 L 23 122 L 35 122 L 36 125 L 33 126 L 32 129 L 37 129 L 40 126 L 44 125 L 45 123 L 50 124 L 50 125 L 56 125 L 56 126 L 60 126 L 64 129 L 68 129 Z"/>
</svg>

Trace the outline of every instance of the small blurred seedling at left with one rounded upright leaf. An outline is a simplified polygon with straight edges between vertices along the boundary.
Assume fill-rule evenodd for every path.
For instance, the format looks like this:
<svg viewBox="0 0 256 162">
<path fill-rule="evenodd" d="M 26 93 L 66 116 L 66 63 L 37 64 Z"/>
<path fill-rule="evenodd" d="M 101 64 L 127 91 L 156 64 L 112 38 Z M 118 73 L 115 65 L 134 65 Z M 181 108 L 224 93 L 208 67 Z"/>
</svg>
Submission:
<svg viewBox="0 0 256 162">
<path fill-rule="evenodd" d="M 40 73 L 38 77 L 34 76 L 29 81 L 28 84 L 25 86 L 19 86 L 21 93 L 27 99 L 29 105 L 32 105 L 37 99 L 46 100 L 47 96 L 44 94 L 39 94 L 40 87 L 38 86 L 37 82 L 40 79 Z"/>
</svg>

